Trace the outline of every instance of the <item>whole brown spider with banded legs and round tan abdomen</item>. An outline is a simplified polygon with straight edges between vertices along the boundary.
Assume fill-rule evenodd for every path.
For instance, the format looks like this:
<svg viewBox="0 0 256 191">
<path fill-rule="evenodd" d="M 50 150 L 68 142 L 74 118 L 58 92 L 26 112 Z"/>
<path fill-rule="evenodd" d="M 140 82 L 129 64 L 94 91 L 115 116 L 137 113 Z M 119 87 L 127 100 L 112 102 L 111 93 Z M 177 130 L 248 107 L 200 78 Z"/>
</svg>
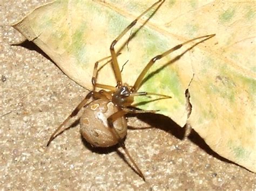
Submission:
<svg viewBox="0 0 256 191">
<path fill-rule="evenodd" d="M 164 1 L 159 0 L 158 2 L 151 5 L 150 8 L 141 13 L 135 20 L 133 20 L 133 22 L 129 26 L 127 26 L 124 29 L 122 33 L 119 34 L 119 36 L 116 39 L 113 40 L 110 46 L 111 56 L 107 56 L 106 58 L 103 58 L 95 63 L 95 67 L 93 69 L 93 76 L 91 80 L 93 90 L 91 90 L 90 93 L 86 95 L 84 100 L 78 104 L 76 109 L 73 110 L 69 117 L 66 118 L 65 121 L 62 124 L 60 124 L 60 126 L 55 130 L 55 132 L 52 133 L 47 146 L 49 146 L 53 138 L 55 138 L 55 136 L 57 136 L 58 133 L 61 132 L 61 129 L 65 126 L 69 119 L 76 116 L 79 110 L 85 107 L 83 115 L 82 117 L 80 117 L 80 133 L 86 139 L 86 141 L 89 142 L 92 146 L 96 147 L 109 147 L 116 144 L 122 146 L 126 155 L 129 157 L 133 166 L 136 168 L 137 173 L 145 181 L 142 171 L 140 171 L 136 162 L 132 159 L 123 142 L 123 139 L 126 136 L 127 132 L 127 123 L 125 115 L 128 113 L 137 114 L 145 112 L 156 112 L 157 110 L 138 110 L 137 108 L 133 107 L 134 105 L 132 103 L 134 101 L 134 96 L 154 95 L 160 96 L 161 98 L 171 98 L 171 96 L 167 95 L 138 91 L 150 67 L 157 60 L 163 58 L 164 56 L 170 54 L 173 51 L 176 51 L 183 45 L 190 43 L 193 40 L 203 39 L 200 40 L 198 43 L 194 44 L 192 47 L 188 48 L 185 52 L 189 51 L 197 44 L 202 43 L 203 41 L 215 36 L 215 34 L 202 36 L 194 38 L 192 40 L 188 40 L 183 44 L 174 46 L 173 48 L 169 49 L 163 54 L 157 55 L 154 58 L 152 58 L 149 61 L 149 63 L 147 63 L 145 68 L 142 70 L 133 86 L 129 86 L 128 84 L 123 83 L 122 75 L 117 61 L 117 56 L 119 54 L 116 53 L 114 46 L 124 36 L 124 34 L 137 23 L 137 21 L 143 15 L 145 15 L 147 12 L 153 9 L 156 5 L 158 5 L 159 7 L 163 2 Z M 185 52 L 177 56 L 175 60 L 178 60 L 183 54 L 185 54 Z M 116 87 L 96 82 L 98 74 L 98 64 L 99 62 L 102 62 L 107 59 L 110 59 L 112 63 L 112 68 L 114 70 L 114 75 L 117 81 Z M 96 91 L 96 87 L 103 89 L 100 91 Z M 87 103 L 89 100 L 91 101 Z"/>
</svg>

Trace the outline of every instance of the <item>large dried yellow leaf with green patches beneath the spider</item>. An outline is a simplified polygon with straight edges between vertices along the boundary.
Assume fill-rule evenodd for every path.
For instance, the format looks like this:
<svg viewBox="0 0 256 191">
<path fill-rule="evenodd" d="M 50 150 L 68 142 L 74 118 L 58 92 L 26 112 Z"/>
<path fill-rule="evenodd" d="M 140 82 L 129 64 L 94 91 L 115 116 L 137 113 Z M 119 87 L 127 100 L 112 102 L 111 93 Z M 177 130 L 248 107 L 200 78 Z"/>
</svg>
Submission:
<svg viewBox="0 0 256 191">
<path fill-rule="evenodd" d="M 94 63 L 110 55 L 112 40 L 152 3 L 56 1 L 37 8 L 14 27 L 66 75 L 91 89 Z M 153 56 L 194 37 L 217 36 L 178 61 L 171 62 L 193 43 L 157 62 L 140 91 L 173 98 L 139 107 L 160 110 L 180 126 L 190 123 L 215 152 L 256 172 L 255 2 L 165 1 L 142 27 L 151 15 L 117 45 L 123 81 L 130 85 Z M 98 81 L 115 86 L 110 64 L 100 70 Z M 192 104 L 189 117 L 186 89 Z M 139 97 L 136 103 L 151 99 Z"/>
</svg>

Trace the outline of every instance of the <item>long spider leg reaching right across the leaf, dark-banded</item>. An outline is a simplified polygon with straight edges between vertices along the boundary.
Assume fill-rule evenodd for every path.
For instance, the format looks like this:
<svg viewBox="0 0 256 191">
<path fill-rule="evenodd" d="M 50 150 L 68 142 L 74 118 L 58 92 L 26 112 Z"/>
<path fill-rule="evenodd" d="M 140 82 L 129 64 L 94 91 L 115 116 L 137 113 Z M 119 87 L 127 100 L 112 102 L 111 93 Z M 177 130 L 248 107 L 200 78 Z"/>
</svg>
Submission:
<svg viewBox="0 0 256 191">
<path fill-rule="evenodd" d="M 149 69 L 151 68 L 151 66 L 153 65 L 154 62 L 156 62 L 157 60 L 160 60 L 161 58 L 163 58 L 164 56 L 176 51 L 177 49 L 183 47 L 185 44 L 190 43 L 191 41 L 197 40 L 197 39 L 201 39 L 204 38 L 203 40 L 200 40 L 198 43 L 194 44 L 193 46 L 191 46 L 190 48 L 186 49 L 186 51 L 184 51 L 183 53 L 181 53 L 180 55 L 178 55 L 175 60 L 180 59 L 181 56 L 183 56 L 186 52 L 190 51 L 193 47 L 197 46 L 200 43 L 203 43 L 203 41 L 208 40 L 212 37 L 214 37 L 215 34 L 210 34 L 210 35 L 206 35 L 206 36 L 202 36 L 202 37 L 197 37 L 191 40 L 186 41 L 185 43 L 179 44 L 177 46 L 174 46 L 173 48 L 169 49 L 168 51 L 164 52 L 163 54 L 159 54 L 157 56 L 154 56 L 154 58 L 152 58 L 150 60 L 149 63 L 147 63 L 147 65 L 145 66 L 145 68 L 142 70 L 142 73 L 140 73 L 139 77 L 137 78 L 136 82 L 133 85 L 132 91 L 136 92 L 140 86 L 142 85 L 142 81 L 147 73 L 147 71 L 149 71 Z"/>
</svg>

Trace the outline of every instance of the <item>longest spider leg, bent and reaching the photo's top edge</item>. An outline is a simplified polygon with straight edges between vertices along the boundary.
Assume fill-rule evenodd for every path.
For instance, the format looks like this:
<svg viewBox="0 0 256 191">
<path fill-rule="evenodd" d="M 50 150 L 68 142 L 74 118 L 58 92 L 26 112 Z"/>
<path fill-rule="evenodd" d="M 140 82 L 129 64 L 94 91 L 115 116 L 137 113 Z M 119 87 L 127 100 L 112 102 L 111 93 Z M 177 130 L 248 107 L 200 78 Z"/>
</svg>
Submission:
<svg viewBox="0 0 256 191">
<path fill-rule="evenodd" d="M 120 72 L 120 68 L 118 65 L 118 61 L 117 61 L 117 53 L 114 50 L 114 45 L 117 44 L 117 42 L 125 35 L 126 32 L 128 32 L 136 23 L 137 21 L 143 16 L 145 15 L 145 13 L 147 13 L 148 11 L 150 11 L 152 8 L 154 8 L 154 6 L 156 6 L 158 3 L 162 2 L 161 0 L 159 0 L 158 2 L 154 3 L 153 5 L 150 6 L 150 8 L 148 8 L 147 10 L 145 10 L 142 14 L 140 14 L 135 20 L 133 20 L 133 22 L 128 25 L 124 31 L 122 33 L 119 34 L 119 36 L 113 40 L 113 42 L 110 45 L 110 53 L 112 56 L 112 66 L 113 66 L 113 70 L 114 70 L 114 75 L 116 76 L 116 80 L 117 80 L 117 85 L 118 86 L 122 86 L 123 82 L 122 82 L 122 75 Z"/>
</svg>

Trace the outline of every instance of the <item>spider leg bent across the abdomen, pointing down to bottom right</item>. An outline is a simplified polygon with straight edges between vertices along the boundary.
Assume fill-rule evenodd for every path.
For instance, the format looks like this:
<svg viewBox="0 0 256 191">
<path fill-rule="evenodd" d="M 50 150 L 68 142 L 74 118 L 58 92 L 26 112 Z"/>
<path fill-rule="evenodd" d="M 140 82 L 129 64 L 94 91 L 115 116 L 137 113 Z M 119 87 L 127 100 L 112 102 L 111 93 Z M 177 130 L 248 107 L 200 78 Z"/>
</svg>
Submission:
<svg viewBox="0 0 256 191">
<path fill-rule="evenodd" d="M 130 159 L 130 161 L 132 162 L 133 166 L 136 168 L 137 173 L 145 181 L 145 177 L 144 177 L 142 171 L 140 171 L 140 169 L 137 166 L 136 162 L 133 160 L 133 158 L 131 157 L 129 151 L 127 150 L 123 140 L 120 138 L 120 136 L 118 135 L 118 132 L 116 131 L 116 129 L 114 129 L 114 126 L 113 126 L 113 122 L 116 121 L 118 118 L 123 117 L 125 114 L 127 114 L 127 112 L 125 112 L 123 110 L 119 110 L 119 111 L 115 112 L 114 114 L 112 114 L 109 118 L 107 118 L 107 122 L 109 123 L 109 128 L 110 128 L 110 131 L 111 131 L 113 137 L 116 140 L 118 140 L 119 145 L 122 146 L 125 154 Z"/>
</svg>

